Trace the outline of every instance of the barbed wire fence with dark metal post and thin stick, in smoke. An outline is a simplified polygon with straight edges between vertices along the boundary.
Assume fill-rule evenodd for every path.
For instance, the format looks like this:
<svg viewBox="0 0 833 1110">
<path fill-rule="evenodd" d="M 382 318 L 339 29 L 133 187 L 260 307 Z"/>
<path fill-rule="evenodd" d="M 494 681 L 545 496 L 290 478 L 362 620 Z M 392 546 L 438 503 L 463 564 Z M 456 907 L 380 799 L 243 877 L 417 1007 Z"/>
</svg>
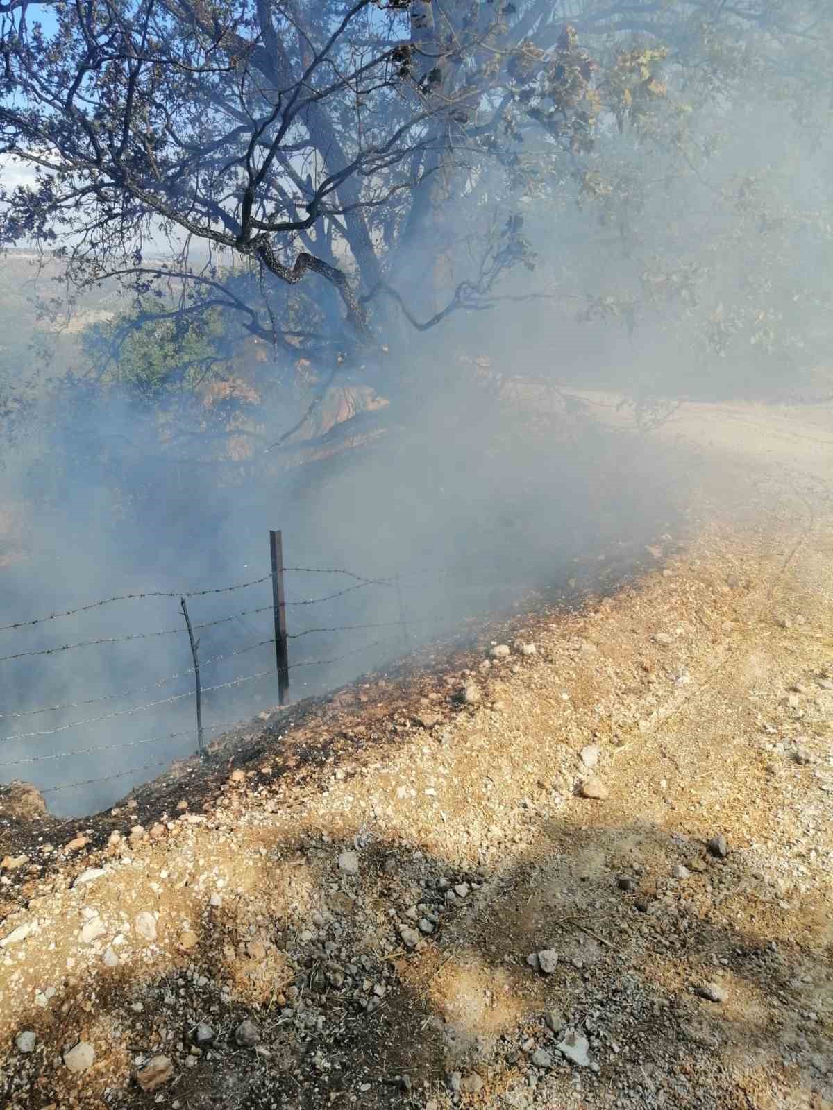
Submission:
<svg viewBox="0 0 833 1110">
<path fill-rule="evenodd" d="M 237 716 L 221 722 L 210 722 L 203 725 L 202 710 L 208 703 L 209 714 L 212 715 L 219 704 L 223 704 L 223 696 L 237 694 L 251 689 L 252 684 L 270 684 L 269 689 L 277 690 L 278 697 L 274 699 L 279 705 L 288 702 L 290 684 L 301 683 L 305 685 L 302 676 L 314 668 L 332 668 L 337 664 L 348 660 L 360 665 L 363 657 L 370 657 L 371 662 L 379 665 L 380 660 L 391 660 L 398 655 L 405 654 L 420 639 L 424 640 L 434 634 L 440 634 L 444 629 L 458 623 L 449 619 L 448 614 L 443 615 L 421 615 L 414 617 L 412 613 L 414 594 L 423 596 L 423 582 L 425 576 L 431 576 L 434 581 L 453 575 L 453 571 L 443 567 L 426 568 L 420 567 L 415 571 L 395 571 L 389 576 L 365 576 L 354 571 L 341 567 L 298 567 L 284 566 L 282 562 L 282 547 L 280 533 L 270 533 L 270 549 L 272 568 L 269 574 L 260 575 L 245 582 L 235 582 L 225 586 L 217 586 L 205 589 L 192 591 L 147 591 L 139 593 L 123 593 L 111 597 L 100 598 L 73 608 L 46 613 L 28 619 L 14 620 L 0 625 L 0 634 L 12 636 L 22 635 L 28 630 L 36 630 L 39 634 L 49 635 L 51 629 L 59 628 L 60 622 L 66 618 L 89 617 L 92 613 L 101 613 L 108 608 L 116 609 L 123 603 L 142 603 L 150 599 L 171 602 L 178 601 L 177 609 L 180 616 L 180 624 L 175 627 L 151 628 L 142 632 L 127 632 L 118 636 L 97 636 L 92 638 L 71 637 L 68 643 L 48 643 L 38 646 L 23 646 L 20 650 L 6 650 L 0 654 L 0 676 L 3 667 L 14 664 L 18 660 L 31 662 L 36 666 L 46 665 L 50 657 L 72 655 L 79 653 L 79 658 L 86 658 L 87 653 L 93 648 L 106 649 L 108 653 L 118 650 L 121 645 L 147 645 L 159 643 L 170 638 L 174 643 L 174 637 L 182 637 L 182 659 L 190 662 L 191 666 L 182 666 L 172 674 L 153 677 L 149 680 L 139 682 L 137 685 L 129 685 L 114 692 L 108 692 L 91 697 L 74 697 L 70 699 L 52 700 L 46 705 L 34 705 L 27 707 L 9 707 L 11 696 L 7 694 L 6 704 L 0 702 L 0 781 L 10 781 L 24 777 L 33 781 L 43 794 L 59 794 L 63 791 L 81 790 L 84 788 L 100 786 L 113 780 L 129 777 L 142 776 L 148 771 L 158 770 L 160 767 L 170 765 L 174 758 L 170 751 L 173 746 L 185 747 L 185 755 L 199 751 L 205 755 L 208 751 L 207 738 L 217 737 L 222 731 L 239 725 L 241 718 L 252 716 L 251 706 L 242 706 Z M 312 592 L 312 596 L 287 596 L 285 578 L 293 576 L 293 581 L 303 582 L 301 576 L 321 576 L 330 579 L 341 578 L 347 584 L 337 589 L 329 589 L 324 593 Z M 295 579 L 295 576 L 298 578 Z M 257 589 L 270 583 L 272 587 L 272 601 L 270 604 L 253 605 L 251 607 L 240 607 L 232 613 L 225 613 L 211 619 L 191 619 L 188 602 L 198 603 L 200 599 L 212 598 L 219 601 L 227 594 Z M 321 607 L 331 607 L 350 595 L 355 596 L 359 592 L 373 591 L 378 595 L 373 601 L 373 608 L 384 609 L 385 604 L 390 608 L 390 618 L 380 620 L 342 620 L 342 623 L 314 622 L 303 627 L 303 615 L 315 613 Z M 299 589 L 294 589 L 297 595 Z M 409 604 L 409 602 L 411 604 Z M 272 634 L 268 634 L 267 619 L 269 615 L 273 626 Z M 198 616 L 197 610 L 193 614 Z M 200 658 L 199 648 L 202 635 L 211 629 L 220 629 L 225 634 L 225 627 L 232 623 L 244 628 L 249 627 L 251 619 L 261 618 L 262 627 L 260 637 L 253 637 L 251 643 L 235 646 L 231 649 L 217 652 L 208 657 Z M 301 627 L 299 627 L 299 624 Z M 225 626 L 225 627 L 224 627 Z M 354 642 L 354 633 L 375 633 L 370 640 Z M 390 632 L 390 635 L 387 633 Z M 381 633 L 381 635 L 379 635 Z M 348 639 L 345 649 L 337 647 L 334 654 L 317 652 L 312 645 L 324 643 L 337 637 L 337 643 Z M 311 644 L 311 650 L 307 654 L 305 645 Z M 10 645 L 13 646 L 13 645 Z M 0 647 L 0 650 L 2 648 Z M 243 656 L 262 653 L 264 662 L 260 667 L 252 668 L 248 673 L 235 674 L 228 680 L 211 680 L 212 672 L 224 665 L 237 664 Z M 267 663 L 269 654 L 272 662 Z M 74 669 L 74 676 L 84 672 L 83 662 Z M 361 669 L 355 672 L 361 673 Z M 209 676 L 208 684 L 203 684 L 205 676 Z M 294 677 L 293 677 L 294 676 Z M 161 697 L 151 696 L 148 700 L 142 700 L 124 707 L 109 708 L 111 703 L 128 702 L 143 695 L 154 695 L 162 693 L 165 686 L 179 682 L 187 682 L 190 688 L 178 690 L 177 693 L 164 694 Z M 30 683 L 36 688 L 40 684 L 34 680 Z M 48 686 L 48 682 L 43 685 Z M 233 699 L 230 702 L 233 706 Z M 187 710 L 193 706 L 195 712 L 195 723 L 189 727 L 174 727 L 170 730 L 160 730 L 154 735 L 139 735 L 136 738 L 118 739 L 112 743 L 94 743 L 90 738 L 91 730 L 99 726 L 110 727 L 116 724 L 123 726 L 128 720 L 141 719 L 142 714 L 154 714 L 160 712 Z M 99 710 L 103 712 L 99 712 Z M 82 716 L 76 716 L 76 710 L 88 710 Z M 50 715 L 52 719 L 60 723 L 51 727 L 28 728 L 29 720 L 36 726 L 49 725 Z M 70 716 L 71 719 L 61 719 Z M 84 733 L 87 737 L 84 738 Z M 80 738 L 79 738 L 80 736 Z M 72 738 L 71 747 L 61 746 L 64 737 Z M 50 747 L 50 738 L 59 738 Z M 209 741 L 210 743 L 210 741 Z M 152 750 L 153 746 L 165 744 L 168 751 L 164 758 L 152 759 L 137 766 L 122 766 L 122 756 L 130 749 Z M 13 756 L 13 758 L 11 758 Z M 108 773 L 93 775 L 88 778 L 76 779 L 71 774 L 64 776 L 62 773 L 63 760 L 71 766 L 83 757 L 91 757 L 99 763 L 107 763 Z M 39 774 L 52 768 L 49 775 Z M 40 781 L 38 781 L 40 779 Z"/>
</svg>

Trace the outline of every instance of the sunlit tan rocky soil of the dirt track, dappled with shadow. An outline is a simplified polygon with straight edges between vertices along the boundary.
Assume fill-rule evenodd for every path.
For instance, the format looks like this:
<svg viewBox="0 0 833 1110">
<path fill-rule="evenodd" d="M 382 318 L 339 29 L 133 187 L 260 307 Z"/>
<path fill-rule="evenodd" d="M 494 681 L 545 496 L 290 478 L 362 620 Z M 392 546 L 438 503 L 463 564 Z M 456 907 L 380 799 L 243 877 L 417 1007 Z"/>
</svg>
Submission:
<svg viewBox="0 0 833 1110">
<path fill-rule="evenodd" d="M 612 596 L 82 823 L 6 791 L 0 1103 L 830 1110 L 833 431 L 795 427 L 694 453 Z"/>
</svg>

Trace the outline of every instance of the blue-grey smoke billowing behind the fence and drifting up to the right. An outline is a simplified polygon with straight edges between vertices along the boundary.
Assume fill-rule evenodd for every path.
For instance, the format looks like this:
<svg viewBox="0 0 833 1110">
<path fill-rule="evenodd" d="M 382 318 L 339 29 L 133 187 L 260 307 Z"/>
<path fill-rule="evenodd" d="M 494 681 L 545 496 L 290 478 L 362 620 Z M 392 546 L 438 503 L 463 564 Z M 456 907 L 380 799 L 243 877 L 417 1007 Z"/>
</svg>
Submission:
<svg viewBox="0 0 833 1110">
<path fill-rule="evenodd" d="M 678 533 L 685 457 L 672 463 L 635 425 L 600 425 L 584 391 L 608 391 L 611 405 L 628 394 L 642 416 L 664 397 L 767 395 L 830 340 L 829 151 L 800 148 L 785 115 L 744 125 L 662 188 L 631 188 L 624 167 L 620 203 L 601 215 L 568 190 L 561 205 L 522 199 L 538 261 L 511 278 L 521 300 L 451 317 L 419 346 L 408 333 L 388 365 L 339 370 L 337 387 L 359 381 L 391 403 L 330 456 L 324 443 L 304 465 L 280 451 L 212 462 L 197 434 L 193 450 L 163 450 L 155 415 L 117 391 L 93 400 L 79 385 L 73 405 L 44 402 L 0 478 L 22 521 L 2 624 L 23 623 L 0 633 L 0 656 L 22 653 L 0 662 L 0 778 L 47 790 L 92 780 L 48 795 L 53 813 L 80 814 L 192 754 L 179 594 L 264 578 L 271 528 L 287 565 L 309 568 L 287 576 L 293 699 L 489 616 L 612 587 L 600 574 L 612 555 L 624 565 Z M 653 176 L 669 165 L 656 155 Z M 465 272 L 456 262 L 450 289 Z M 403 295 L 416 299 L 418 278 Z M 258 411 L 263 438 L 302 412 L 275 391 Z M 149 592 L 172 596 L 59 615 Z M 271 584 L 189 607 L 204 626 L 203 686 L 221 687 L 205 693 L 211 739 L 277 702 Z"/>
</svg>

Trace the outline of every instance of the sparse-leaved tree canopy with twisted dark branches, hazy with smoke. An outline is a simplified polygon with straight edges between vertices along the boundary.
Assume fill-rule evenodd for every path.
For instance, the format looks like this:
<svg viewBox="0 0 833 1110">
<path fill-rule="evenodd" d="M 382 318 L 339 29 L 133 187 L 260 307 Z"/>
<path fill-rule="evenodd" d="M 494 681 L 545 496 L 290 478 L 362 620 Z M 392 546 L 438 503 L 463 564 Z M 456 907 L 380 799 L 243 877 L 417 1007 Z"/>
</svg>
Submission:
<svg viewBox="0 0 833 1110">
<path fill-rule="evenodd" d="M 0 153 L 33 174 L 0 244 L 117 279 L 137 326 L 231 314 L 287 364 L 558 299 L 555 271 L 584 319 L 685 315 L 721 254 L 749 294 L 831 233 L 829 195 L 779 196 L 826 149 L 827 0 L 0 0 Z M 749 172 L 773 112 L 789 141 Z M 772 343 L 759 301 L 701 332 Z"/>
</svg>

